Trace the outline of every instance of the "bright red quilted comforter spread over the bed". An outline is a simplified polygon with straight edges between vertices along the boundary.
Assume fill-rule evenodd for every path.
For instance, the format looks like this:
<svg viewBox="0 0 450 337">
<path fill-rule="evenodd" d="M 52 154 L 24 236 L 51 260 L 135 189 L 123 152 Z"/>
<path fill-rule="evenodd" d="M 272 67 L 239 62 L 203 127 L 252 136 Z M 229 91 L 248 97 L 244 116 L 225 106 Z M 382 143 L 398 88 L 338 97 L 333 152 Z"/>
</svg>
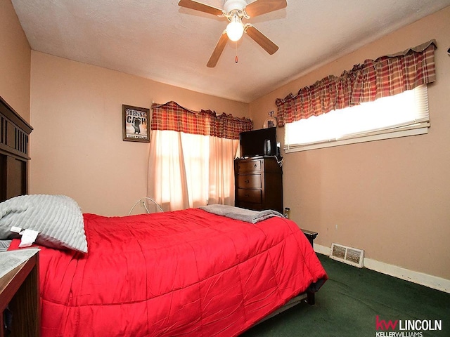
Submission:
<svg viewBox="0 0 450 337">
<path fill-rule="evenodd" d="M 285 218 L 188 209 L 84 223 L 85 256 L 40 252 L 43 337 L 236 336 L 326 279 Z"/>
</svg>

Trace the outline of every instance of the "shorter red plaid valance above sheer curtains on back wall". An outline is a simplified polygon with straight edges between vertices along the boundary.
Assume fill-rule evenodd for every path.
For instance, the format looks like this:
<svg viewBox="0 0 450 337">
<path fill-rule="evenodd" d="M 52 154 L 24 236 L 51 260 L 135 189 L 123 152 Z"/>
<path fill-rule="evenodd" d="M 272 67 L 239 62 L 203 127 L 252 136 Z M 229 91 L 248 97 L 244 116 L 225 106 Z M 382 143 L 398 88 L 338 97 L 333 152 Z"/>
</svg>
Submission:
<svg viewBox="0 0 450 337">
<path fill-rule="evenodd" d="M 195 135 L 239 139 L 239 133 L 251 131 L 253 122 L 231 114 L 216 114 L 211 110 L 199 112 L 181 107 L 174 101 L 152 105 L 152 130 L 171 130 Z"/>
</svg>

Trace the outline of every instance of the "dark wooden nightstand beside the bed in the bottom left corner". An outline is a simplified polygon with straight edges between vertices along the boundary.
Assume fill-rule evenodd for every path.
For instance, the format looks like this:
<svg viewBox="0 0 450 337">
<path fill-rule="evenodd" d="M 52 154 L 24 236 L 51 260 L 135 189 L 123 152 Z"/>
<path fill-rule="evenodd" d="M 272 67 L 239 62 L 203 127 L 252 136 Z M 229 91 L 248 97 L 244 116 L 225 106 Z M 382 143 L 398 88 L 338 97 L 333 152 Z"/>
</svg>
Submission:
<svg viewBox="0 0 450 337">
<path fill-rule="evenodd" d="M 4 328 L 4 311 L 13 314 L 11 334 Z M 41 336 L 39 305 L 39 252 L 0 279 L 0 337 Z"/>
</svg>

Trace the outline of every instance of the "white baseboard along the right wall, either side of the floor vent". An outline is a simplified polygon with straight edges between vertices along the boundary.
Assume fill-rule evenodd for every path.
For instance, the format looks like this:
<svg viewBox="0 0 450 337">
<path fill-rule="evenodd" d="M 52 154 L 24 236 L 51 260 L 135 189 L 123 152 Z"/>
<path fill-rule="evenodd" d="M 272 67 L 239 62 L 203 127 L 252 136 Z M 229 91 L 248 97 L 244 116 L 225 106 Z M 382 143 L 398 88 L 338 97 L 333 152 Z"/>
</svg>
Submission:
<svg viewBox="0 0 450 337">
<path fill-rule="evenodd" d="M 326 256 L 330 256 L 330 247 L 321 246 L 320 244 L 314 244 L 314 251 Z M 386 275 L 397 277 L 399 279 L 405 279 L 406 281 L 428 286 L 432 289 L 437 289 L 450 293 L 450 280 L 443 279 L 433 275 L 424 274 L 423 272 L 414 272 L 397 265 L 390 265 L 384 262 L 373 260 L 371 258 L 364 258 L 364 267 L 367 269 L 375 270 L 375 272 L 381 272 Z"/>
</svg>

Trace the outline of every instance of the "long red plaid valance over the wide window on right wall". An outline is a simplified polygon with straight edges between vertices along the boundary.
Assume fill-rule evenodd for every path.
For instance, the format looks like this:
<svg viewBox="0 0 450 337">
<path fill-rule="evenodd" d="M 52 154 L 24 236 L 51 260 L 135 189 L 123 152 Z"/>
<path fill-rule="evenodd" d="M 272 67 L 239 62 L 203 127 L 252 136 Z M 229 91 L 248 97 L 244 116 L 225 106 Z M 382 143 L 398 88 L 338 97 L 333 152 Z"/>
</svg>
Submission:
<svg viewBox="0 0 450 337">
<path fill-rule="evenodd" d="M 312 86 L 277 98 L 278 126 L 331 110 L 396 95 L 436 80 L 436 41 L 354 65 L 340 77 L 330 75 Z"/>
</svg>

